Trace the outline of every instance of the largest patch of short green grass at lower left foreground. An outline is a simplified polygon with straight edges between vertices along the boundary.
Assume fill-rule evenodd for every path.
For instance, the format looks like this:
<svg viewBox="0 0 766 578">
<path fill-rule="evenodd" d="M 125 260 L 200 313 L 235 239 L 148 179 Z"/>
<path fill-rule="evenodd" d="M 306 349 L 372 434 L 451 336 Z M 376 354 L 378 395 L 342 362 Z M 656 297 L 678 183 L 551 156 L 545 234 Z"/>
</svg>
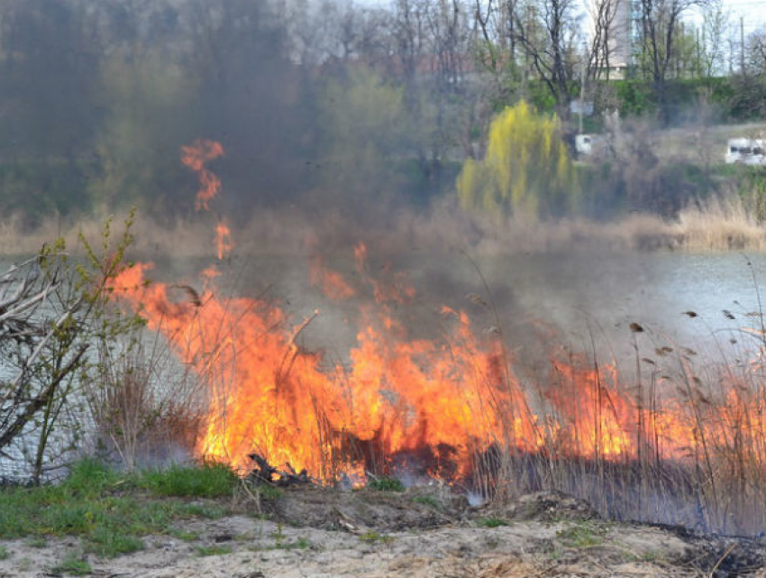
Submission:
<svg viewBox="0 0 766 578">
<path fill-rule="evenodd" d="M 127 475 L 85 460 L 57 485 L 0 492 L 0 539 L 29 537 L 41 547 L 50 536 L 76 536 L 87 552 L 129 554 L 143 548 L 142 536 L 171 535 L 180 519 L 223 517 L 231 508 L 213 499 L 233 497 L 236 487 L 221 464 Z"/>
</svg>

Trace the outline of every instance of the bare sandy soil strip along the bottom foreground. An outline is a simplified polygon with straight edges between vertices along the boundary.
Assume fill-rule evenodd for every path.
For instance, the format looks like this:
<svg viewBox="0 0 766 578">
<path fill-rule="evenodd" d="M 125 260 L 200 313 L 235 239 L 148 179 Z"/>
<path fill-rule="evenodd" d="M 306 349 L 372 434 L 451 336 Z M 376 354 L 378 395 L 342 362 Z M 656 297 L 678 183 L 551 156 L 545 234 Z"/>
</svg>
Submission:
<svg viewBox="0 0 766 578">
<path fill-rule="evenodd" d="M 763 547 L 754 540 L 606 522 L 587 505 L 558 494 L 462 512 L 454 504 L 417 503 L 418 512 L 425 511 L 420 506 L 440 512 L 435 522 L 418 514 L 401 518 L 405 509 L 392 507 L 412 505 L 412 496 L 357 492 L 324 500 L 322 518 L 316 510 L 328 494 L 307 493 L 308 499 L 305 492 L 289 492 L 278 501 L 281 508 L 289 504 L 292 514 L 292 508 L 303 509 L 314 527 L 287 525 L 272 507 L 260 517 L 188 520 L 175 528 L 183 537 L 145 537 L 141 552 L 113 560 L 89 555 L 87 561 L 94 575 L 135 577 L 766 576 Z M 378 520 L 375 527 L 367 525 L 372 518 Z M 506 525 L 488 528 L 490 520 Z M 387 529 L 400 523 L 412 526 Z M 59 575 L 51 569 L 82 552 L 74 538 L 51 539 L 43 547 L 16 540 L 5 548 L 3 577 Z"/>
</svg>

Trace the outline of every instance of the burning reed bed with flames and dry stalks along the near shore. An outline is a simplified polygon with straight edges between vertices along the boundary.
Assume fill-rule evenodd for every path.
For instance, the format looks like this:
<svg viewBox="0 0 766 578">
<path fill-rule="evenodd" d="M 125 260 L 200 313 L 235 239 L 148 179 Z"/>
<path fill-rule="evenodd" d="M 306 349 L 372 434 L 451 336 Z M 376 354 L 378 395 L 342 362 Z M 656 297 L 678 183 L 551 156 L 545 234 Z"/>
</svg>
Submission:
<svg viewBox="0 0 766 578">
<path fill-rule="evenodd" d="M 198 456 L 246 472 L 256 451 L 325 483 L 360 483 L 372 472 L 438 479 L 490 500 L 558 490 L 609 518 L 766 528 L 759 327 L 737 329 L 735 347 L 716 344 L 718 362 L 637 323 L 626 335 L 631 372 L 602 359 L 595 343 L 573 353 L 551 335 L 538 344 L 545 361 L 532 362 L 508 350 L 499 319 L 485 332 L 450 307 L 440 313 L 442 335 L 412 337 L 415 289 L 391 271 L 374 277 L 366 249 L 355 253 L 352 278 L 311 275 L 328 291 L 336 284 L 326 280 L 342 280 L 359 309 L 349 316 L 360 325 L 345 362 L 300 345 L 314 316 L 293 325 L 278 304 L 226 298 L 209 277 L 196 300 L 147 285 L 147 265 L 117 281 L 115 294 L 208 384 Z M 497 317 L 491 299 L 474 300 Z"/>
</svg>

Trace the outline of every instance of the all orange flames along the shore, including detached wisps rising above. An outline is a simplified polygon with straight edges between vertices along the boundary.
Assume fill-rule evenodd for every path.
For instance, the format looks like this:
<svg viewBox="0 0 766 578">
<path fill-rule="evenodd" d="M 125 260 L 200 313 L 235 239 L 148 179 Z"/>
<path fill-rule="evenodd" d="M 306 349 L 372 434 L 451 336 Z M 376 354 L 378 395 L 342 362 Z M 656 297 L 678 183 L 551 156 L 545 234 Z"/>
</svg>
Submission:
<svg viewBox="0 0 766 578">
<path fill-rule="evenodd" d="M 220 145 L 198 142 L 184 148 L 184 162 L 203 184 L 219 183 L 205 161 L 220 154 Z M 202 206 L 214 197 L 210 190 L 197 197 Z M 219 260 L 232 247 L 231 232 L 219 224 Z M 552 361 L 550 382 L 532 387 L 516 375 L 502 336 L 475 330 L 455 308 L 441 308 L 443 335 L 412 338 L 401 315 L 415 298 L 412 283 L 390 266 L 373 277 L 363 243 L 353 259 L 353 280 L 325 269 L 318 257 L 309 267 L 310 283 L 328 298 L 361 304 L 354 306 L 356 344 L 336 363 L 299 344 L 318 311 L 293 325 L 278 304 L 224 297 L 215 286 L 217 269 L 203 271 L 205 289 L 195 302 L 173 300 L 169 285 L 145 282 L 146 263 L 114 282 L 115 295 L 208 384 L 196 454 L 247 470 L 255 451 L 275 465 L 354 482 L 367 467 L 416 459 L 432 475 L 455 479 L 469 476 L 476 458 L 495 449 L 616 461 L 633 460 L 651 445 L 662 457 L 683 459 L 705 441 L 703 422 L 707 436 L 722 444 L 745 414 L 763 428 L 761 407 L 734 393 L 728 414 L 691 415 L 683 403 L 627 393 L 615 368 L 591 367 L 584 358 Z"/>
</svg>

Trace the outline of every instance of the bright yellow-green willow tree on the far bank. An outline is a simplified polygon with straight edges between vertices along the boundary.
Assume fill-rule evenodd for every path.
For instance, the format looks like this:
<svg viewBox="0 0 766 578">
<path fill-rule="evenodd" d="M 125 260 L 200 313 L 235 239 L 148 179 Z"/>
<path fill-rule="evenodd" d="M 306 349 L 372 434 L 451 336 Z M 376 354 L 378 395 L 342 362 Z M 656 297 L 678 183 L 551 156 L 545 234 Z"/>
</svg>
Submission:
<svg viewBox="0 0 766 578">
<path fill-rule="evenodd" d="M 464 207 L 517 216 L 551 216 L 572 208 L 579 190 L 556 115 L 526 102 L 507 107 L 489 127 L 487 155 L 469 159 L 457 181 Z"/>
</svg>

